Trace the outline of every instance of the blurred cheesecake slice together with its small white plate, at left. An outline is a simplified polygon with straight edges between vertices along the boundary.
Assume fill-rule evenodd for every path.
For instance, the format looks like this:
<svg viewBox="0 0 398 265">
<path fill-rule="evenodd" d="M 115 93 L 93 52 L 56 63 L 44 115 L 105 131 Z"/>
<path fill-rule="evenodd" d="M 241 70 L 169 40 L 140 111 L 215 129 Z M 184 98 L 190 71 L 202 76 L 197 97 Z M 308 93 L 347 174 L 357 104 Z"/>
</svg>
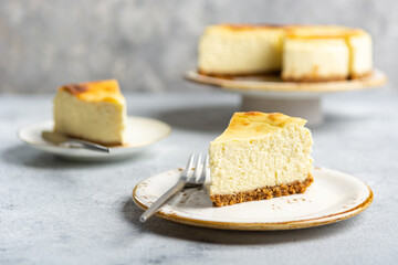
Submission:
<svg viewBox="0 0 398 265">
<path fill-rule="evenodd" d="M 25 144 L 59 156 L 78 160 L 106 160 L 130 156 L 167 137 L 167 124 L 144 117 L 128 117 L 126 99 L 117 81 L 67 84 L 57 89 L 54 119 L 23 127 L 18 135 Z M 42 137 L 54 131 L 67 137 L 109 147 L 109 153 L 54 145 Z"/>
</svg>

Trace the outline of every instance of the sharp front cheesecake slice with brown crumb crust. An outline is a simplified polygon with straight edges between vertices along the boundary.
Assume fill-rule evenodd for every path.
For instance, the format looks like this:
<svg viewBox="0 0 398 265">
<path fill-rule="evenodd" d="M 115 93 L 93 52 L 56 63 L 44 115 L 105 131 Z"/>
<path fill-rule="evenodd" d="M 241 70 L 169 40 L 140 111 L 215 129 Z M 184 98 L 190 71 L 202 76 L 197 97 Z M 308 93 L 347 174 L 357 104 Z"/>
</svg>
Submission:
<svg viewBox="0 0 398 265">
<path fill-rule="evenodd" d="M 303 193 L 313 182 L 313 140 L 305 123 L 277 113 L 235 113 L 210 142 L 213 205 Z"/>
</svg>

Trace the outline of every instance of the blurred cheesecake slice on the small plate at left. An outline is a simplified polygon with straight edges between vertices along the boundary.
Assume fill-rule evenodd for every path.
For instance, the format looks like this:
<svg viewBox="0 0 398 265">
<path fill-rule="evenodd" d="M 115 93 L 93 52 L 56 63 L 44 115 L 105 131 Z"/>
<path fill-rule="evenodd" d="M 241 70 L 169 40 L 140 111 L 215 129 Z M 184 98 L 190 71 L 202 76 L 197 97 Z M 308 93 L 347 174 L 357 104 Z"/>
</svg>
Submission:
<svg viewBox="0 0 398 265">
<path fill-rule="evenodd" d="M 53 103 L 54 131 L 104 146 L 126 144 L 126 100 L 116 80 L 61 86 Z"/>
</svg>

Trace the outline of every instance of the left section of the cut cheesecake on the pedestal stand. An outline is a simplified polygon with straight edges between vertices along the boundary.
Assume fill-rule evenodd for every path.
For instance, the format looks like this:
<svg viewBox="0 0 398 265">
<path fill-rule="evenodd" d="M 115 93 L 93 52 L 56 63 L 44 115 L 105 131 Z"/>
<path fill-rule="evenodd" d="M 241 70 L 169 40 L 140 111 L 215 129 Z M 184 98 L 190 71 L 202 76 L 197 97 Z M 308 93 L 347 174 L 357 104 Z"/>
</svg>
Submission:
<svg viewBox="0 0 398 265">
<path fill-rule="evenodd" d="M 216 76 L 277 72 L 283 34 L 283 28 L 273 25 L 210 25 L 199 42 L 199 72 Z"/>
</svg>

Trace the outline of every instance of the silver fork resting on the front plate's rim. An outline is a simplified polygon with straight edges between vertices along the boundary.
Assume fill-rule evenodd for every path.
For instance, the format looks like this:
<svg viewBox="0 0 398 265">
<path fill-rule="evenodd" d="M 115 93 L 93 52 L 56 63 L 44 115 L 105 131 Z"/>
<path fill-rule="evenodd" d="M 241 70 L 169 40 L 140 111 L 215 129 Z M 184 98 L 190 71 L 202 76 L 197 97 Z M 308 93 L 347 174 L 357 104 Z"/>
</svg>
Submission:
<svg viewBox="0 0 398 265">
<path fill-rule="evenodd" d="M 154 204 L 148 208 L 143 215 L 140 215 L 139 221 L 144 223 L 151 215 L 154 215 L 159 208 L 169 202 L 178 192 L 186 188 L 198 188 L 202 187 L 206 181 L 207 176 L 207 165 L 209 162 L 209 156 L 206 156 L 205 162 L 201 166 L 201 155 L 199 153 L 196 167 L 192 168 L 193 161 L 196 160 L 195 152 L 190 155 L 187 168 L 182 171 L 181 177 L 178 182 L 169 189 L 165 194 L 163 194 Z M 201 167 L 200 167 L 201 166 Z"/>
</svg>

